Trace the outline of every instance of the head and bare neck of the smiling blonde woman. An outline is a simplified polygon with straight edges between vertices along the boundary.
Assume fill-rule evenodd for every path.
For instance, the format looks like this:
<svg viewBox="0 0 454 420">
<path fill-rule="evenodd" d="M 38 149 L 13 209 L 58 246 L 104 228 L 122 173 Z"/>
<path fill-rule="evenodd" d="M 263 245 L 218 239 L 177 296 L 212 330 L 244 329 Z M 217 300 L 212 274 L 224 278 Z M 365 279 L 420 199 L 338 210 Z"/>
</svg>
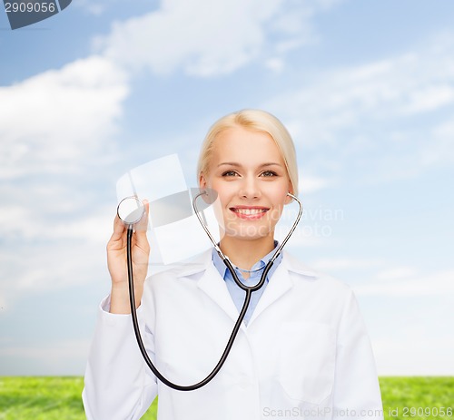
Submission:
<svg viewBox="0 0 454 420">
<path fill-rule="evenodd" d="M 222 247 L 243 259 L 240 267 L 252 266 L 274 249 L 274 228 L 291 201 L 287 193 L 298 194 L 297 168 L 290 133 L 268 112 L 226 115 L 207 133 L 197 165 L 199 182 L 225 203 Z M 258 240 L 252 246 L 242 240 L 245 236 Z"/>
</svg>

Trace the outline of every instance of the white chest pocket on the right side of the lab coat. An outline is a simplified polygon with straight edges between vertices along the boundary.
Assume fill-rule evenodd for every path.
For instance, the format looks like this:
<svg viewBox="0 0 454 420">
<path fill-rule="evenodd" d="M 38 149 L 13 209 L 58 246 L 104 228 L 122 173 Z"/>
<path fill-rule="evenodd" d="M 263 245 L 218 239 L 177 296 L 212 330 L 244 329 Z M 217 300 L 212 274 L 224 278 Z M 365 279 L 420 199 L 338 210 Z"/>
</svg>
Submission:
<svg viewBox="0 0 454 420">
<path fill-rule="evenodd" d="M 321 404 L 334 382 L 334 329 L 317 322 L 290 322 L 281 326 L 278 377 L 292 399 Z"/>
</svg>

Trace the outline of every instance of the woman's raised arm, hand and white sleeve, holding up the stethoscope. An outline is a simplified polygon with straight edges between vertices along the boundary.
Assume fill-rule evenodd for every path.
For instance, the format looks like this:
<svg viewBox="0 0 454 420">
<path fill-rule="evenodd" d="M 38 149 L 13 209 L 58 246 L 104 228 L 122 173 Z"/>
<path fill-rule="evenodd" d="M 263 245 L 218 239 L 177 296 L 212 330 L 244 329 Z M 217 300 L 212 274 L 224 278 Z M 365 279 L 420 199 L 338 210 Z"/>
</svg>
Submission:
<svg viewBox="0 0 454 420">
<path fill-rule="evenodd" d="M 148 203 L 144 201 L 146 216 Z M 132 239 L 134 292 L 137 307 L 143 295 L 150 247 L 146 238 L 147 217 L 137 225 Z M 137 419 L 153 402 L 157 392 L 155 377 L 146 368 L 135 341 L 131 322 L 126 235 L 123 222 L 114 220 L 114 232 L 107 244 L 107 263 L 112 291 L 98 311 L 94 340 L 85 373 L 83 400 L 89 420 Z M 137 316 L 144 345 L 154 357 L 153 335 L 144 320 L 146 308 L 138 308 Z"/>
</svg>

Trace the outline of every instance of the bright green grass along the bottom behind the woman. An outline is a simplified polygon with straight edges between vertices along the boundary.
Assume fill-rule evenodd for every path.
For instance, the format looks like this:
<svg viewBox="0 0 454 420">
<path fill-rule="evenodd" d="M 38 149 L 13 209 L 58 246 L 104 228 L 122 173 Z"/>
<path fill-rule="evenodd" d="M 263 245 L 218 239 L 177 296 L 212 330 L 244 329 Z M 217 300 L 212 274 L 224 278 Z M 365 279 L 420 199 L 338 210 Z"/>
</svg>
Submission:
<svg viewBox="0 0 454 420">
<path fill-rule="evenodd" d="M 84 420 L 83 387 L 81 377 L 0 377 L 0 420 Z M 380 388 L 386 420 L 454 420 L 437 415 L 440 407 L 454 411 L 454 376 L 380 377 Z M 143 419 L 155 418 L 154 402 Z"/>
</svg>

